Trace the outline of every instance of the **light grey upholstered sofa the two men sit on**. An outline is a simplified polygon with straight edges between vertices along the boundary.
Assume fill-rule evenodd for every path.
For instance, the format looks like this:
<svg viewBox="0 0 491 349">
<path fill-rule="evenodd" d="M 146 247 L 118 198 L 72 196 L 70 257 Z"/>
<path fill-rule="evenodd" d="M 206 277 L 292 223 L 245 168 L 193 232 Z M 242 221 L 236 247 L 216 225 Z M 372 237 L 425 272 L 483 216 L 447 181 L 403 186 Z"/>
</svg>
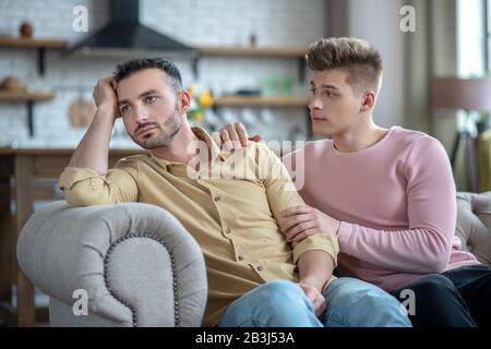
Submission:
<svg viewBox="0 0 491 349">
<path fill-rule="evenodd" d="M 458 193 L 457 207 L 464 249 L 489 265 L 491 192 Z M 159 207 L 52 203 L 24 227 L 17 258 L 50 297 L 52 326 L 201 325 L 207 291 L 203 255 Z M 88 315 L 74 315 L 76 289 L 88 296 Z"/>
</svg>

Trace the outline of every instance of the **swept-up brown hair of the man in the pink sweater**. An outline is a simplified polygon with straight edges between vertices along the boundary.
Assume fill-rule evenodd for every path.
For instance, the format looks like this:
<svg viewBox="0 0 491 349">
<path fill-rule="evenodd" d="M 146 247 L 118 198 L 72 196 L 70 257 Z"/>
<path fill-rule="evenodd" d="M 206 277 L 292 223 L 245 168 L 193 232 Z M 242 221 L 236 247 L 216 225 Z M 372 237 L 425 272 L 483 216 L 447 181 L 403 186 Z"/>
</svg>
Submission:
<svg viewBox="0 0 491 349">
<path fill-rule="evenodd" d="M 364 40 L 354 37 L 322 38 L 309 48 L 307 64 L 313 71 L 345 69 L 347 83 L 355 92 L 369 86 L 380 87 L 382 58 L 379 51 Z"/>
</svg>

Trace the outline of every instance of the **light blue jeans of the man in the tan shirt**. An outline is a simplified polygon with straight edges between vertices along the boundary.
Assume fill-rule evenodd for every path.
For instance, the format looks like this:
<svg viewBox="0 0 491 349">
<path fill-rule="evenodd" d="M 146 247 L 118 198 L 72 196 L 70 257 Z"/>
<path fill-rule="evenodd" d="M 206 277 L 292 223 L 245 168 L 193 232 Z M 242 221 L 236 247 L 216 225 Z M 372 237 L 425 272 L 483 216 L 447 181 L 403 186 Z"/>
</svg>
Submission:
<svg viewBox="0 0 491 349">
<path fill-rule="evenodd" d="M 410 327 L 399 301 L 366 281 L 342 277 L 324 293 L 327 311 L 319 318 L 303 290 L 289 280 L 273 280 L 227 306 L 219 327 Z"/>
</svg>

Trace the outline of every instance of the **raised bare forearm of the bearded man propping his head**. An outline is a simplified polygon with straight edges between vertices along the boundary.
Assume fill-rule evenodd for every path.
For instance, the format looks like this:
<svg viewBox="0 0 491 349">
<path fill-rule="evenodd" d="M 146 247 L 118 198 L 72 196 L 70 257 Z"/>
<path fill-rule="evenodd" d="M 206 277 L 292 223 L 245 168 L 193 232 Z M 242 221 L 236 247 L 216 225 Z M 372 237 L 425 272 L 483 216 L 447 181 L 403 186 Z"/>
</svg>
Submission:
<svg viewBox="0 0 491 349">
<path fill-rule="evenodd" d="M 115 124 L 112 107 L 99 106 L 87 132 L 70 159 L 69 167 L 89 168 L 98 174 L 108 170 L 109 143 Z"/>
</svg>

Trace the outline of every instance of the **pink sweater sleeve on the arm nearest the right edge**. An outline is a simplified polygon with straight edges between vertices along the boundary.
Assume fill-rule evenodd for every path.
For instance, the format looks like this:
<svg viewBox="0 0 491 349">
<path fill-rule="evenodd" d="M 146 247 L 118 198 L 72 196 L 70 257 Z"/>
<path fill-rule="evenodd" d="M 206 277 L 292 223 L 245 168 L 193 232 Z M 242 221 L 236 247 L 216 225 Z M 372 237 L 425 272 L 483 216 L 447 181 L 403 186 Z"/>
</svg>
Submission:
<svg viewBox="0 0 491 349">
<path fill-rule="evenodd" d="M 442 273 L 456 222 L 455 183 L 442 144 L 427 135 L 415 140 L 404 176 L 408 229 L 378 230 L 343 221 L 340 252 L 392 270 Z"/>
</svg>

